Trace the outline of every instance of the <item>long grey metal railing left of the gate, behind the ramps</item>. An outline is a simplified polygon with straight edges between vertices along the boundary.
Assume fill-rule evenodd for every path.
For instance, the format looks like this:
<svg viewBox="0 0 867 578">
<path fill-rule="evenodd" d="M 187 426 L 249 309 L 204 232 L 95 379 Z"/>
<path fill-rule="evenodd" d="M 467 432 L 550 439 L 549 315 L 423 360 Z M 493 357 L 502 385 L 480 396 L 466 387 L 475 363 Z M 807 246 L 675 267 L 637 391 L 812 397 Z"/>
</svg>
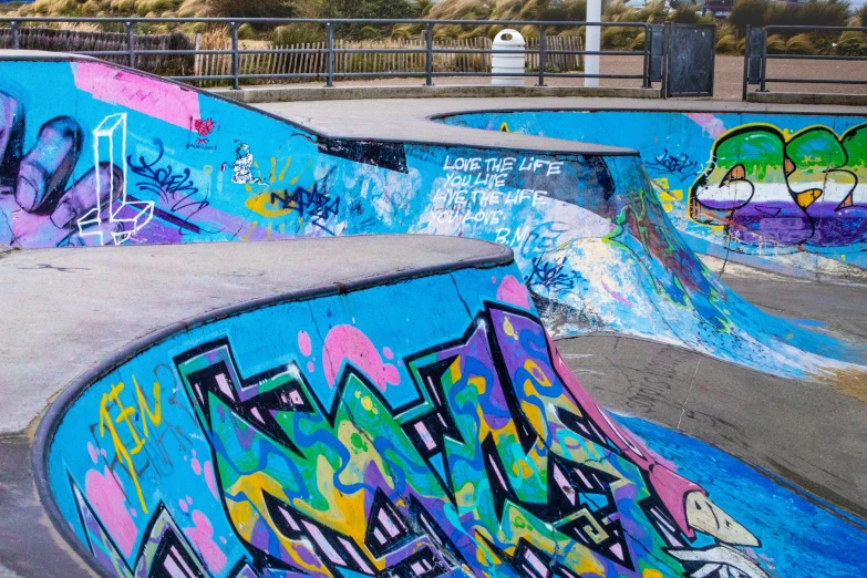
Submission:
<svg viewBox="0 0 867 578">
<path fill-rule="evenodd" d="M 136 68 L 136 60 L 140 55 L 230 55 L 230 73 L 220 75 L 180 75 L 168 76 L 180 81 L 231 81 L 233 89 L 240 89 L 241 81 L 246 80 L 291 80 L 300 78 L 324 76 L 326 86 L 333 86 L 334 79 L 350 78 L 424 78 L 427 86 L 433 85 L 433 80 L 437 76 L 527 76 L 536 78 L 537 86 L 544 86 L 546 79 L 553 78 L 574 78 L 574 79 L 619 79 L 619 80 L 640 80 L 642 87 L 651 87 L 650 82 L 650 47 L 652 30 L 646 22 L 577 22 L 577 21 L 538 21 L 538 20 L 382 20 L 382 19 L 292 19 L 292 18 L 61 18 L 61 17 L 33 17 L 33 18 L 0 18 L 0 27 L 7 24 L 11 30 L 11 48 L 20 48 L 20 31 L 22 27 L 41 23 L 93 23 L 93 24 L 123 24 L 126 32 L 125 50 L 102 50 L 102 51 L 75 51 L 76 54 L 91 56 L 126 55 L 127 65 Z M 230 47 L 228 50 L 141 50 L 135 48 L 136 24 L 221 24 L 229 28 Z M 324 48 L 291 48 L 291 49 L 241 49 L 238 39 L 238 29 L 242 24 L 258 27 L 277 27 L 287 24 L 318 24 L 324 29 Z M 411 24 L 419 25 L 424 32 L 425 48 L 334 48 L 334 30 L 344 25 L 394 25 Z M 503 27 L 535 27 L 538 29 L 539 48 L 538 50 L 496 50 L 496 49 L 452 49 L 434 48 L 435 28 L 440 25 L 503 25 Z M 617 27 L 617 28 L 640 28 L 644 32 L 644 41 L 641 50 L 548 50 L 545 42 L 546 29 L 553 28 L 578 28 L 578 27 Z M 437 71 L 434 70 L 435 54 L 537 54 L 538 70 L 526 71 L 523 73 L 504 72 L 460 72 L 460 71 Z M 319 73 L 241 73 L 239 60 L 241 54 L 324 54 L 326 70 L 323 74 Z M 388 72 L 334 72 L 334 55 L 337 54 L 424 54 L 425 70 L 419 71 L 388 71 Z M 550 54 L 570 54 L 570 55 L 600 55 L 600 56 L 642 56 L 642 66 L 640 73 L 634 74 L 586 74 L 584 72 L 548 72 L 546 71 L 546 56 Z"/>
</svg>

